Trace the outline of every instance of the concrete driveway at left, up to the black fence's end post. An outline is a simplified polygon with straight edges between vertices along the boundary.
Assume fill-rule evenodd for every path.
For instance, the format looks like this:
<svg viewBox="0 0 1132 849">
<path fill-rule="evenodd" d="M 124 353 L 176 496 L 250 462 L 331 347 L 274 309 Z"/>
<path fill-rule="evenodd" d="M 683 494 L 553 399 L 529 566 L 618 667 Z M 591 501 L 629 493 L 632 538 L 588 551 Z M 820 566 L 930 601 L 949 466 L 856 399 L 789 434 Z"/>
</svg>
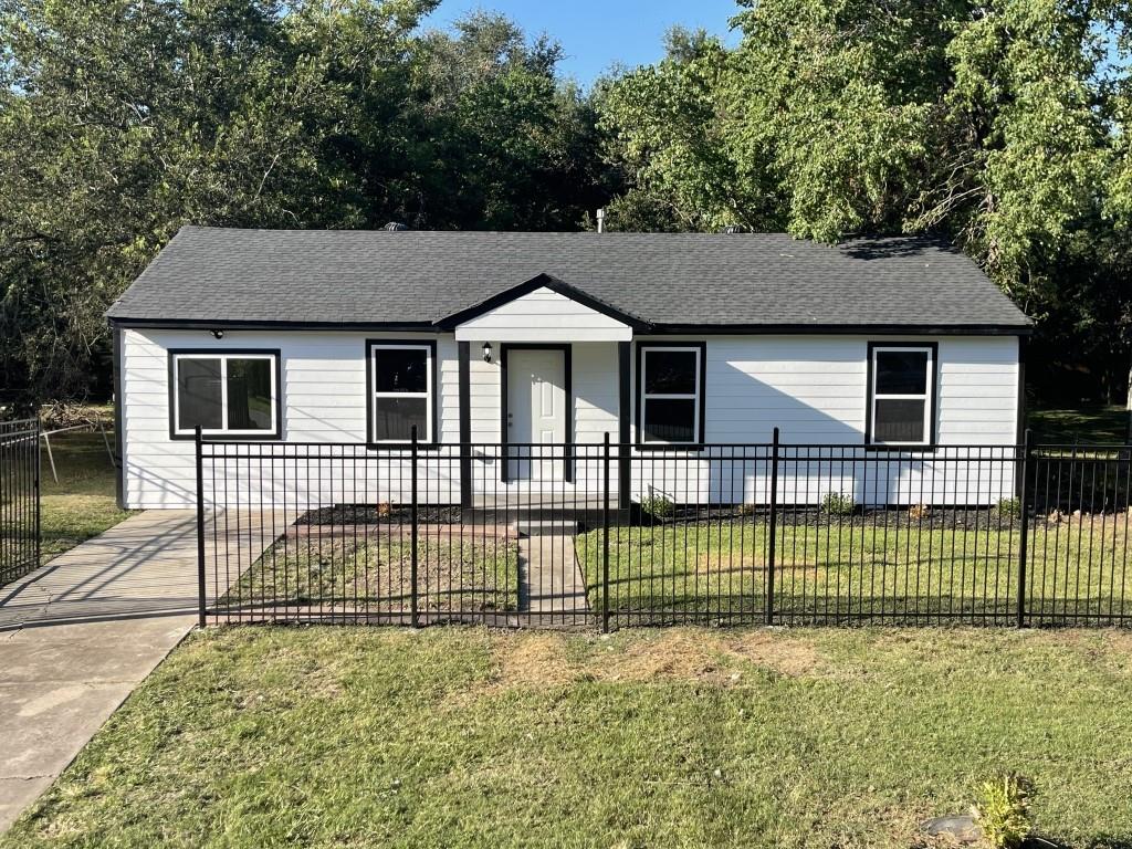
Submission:
<svg viewBox="0 0 1132 849">
<path fill-rule="evenodd" d="M 131 516 L 0 588 L 0 831 L 196 624 L 195 516 Z"/>
</svg>

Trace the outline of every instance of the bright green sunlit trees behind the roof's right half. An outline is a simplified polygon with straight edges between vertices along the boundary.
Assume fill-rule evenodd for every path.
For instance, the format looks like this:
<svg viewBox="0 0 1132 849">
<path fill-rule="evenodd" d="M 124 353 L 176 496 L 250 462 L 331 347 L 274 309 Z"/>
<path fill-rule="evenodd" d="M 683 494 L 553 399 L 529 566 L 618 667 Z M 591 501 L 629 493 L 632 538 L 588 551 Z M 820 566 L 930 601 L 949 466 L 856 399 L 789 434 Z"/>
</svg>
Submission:
<svg viewBox="0 0 1132 849">
<path fill-rule="evenodd" d="M 631 181 L 611 225 L 943 232 L 1038 320 L 1044 361 L 1121 394 L 1132 6 L 740 6 L 738 48 L 678 34 L 657 66 L 603 83 L 608 155 Z"/>
</svg>

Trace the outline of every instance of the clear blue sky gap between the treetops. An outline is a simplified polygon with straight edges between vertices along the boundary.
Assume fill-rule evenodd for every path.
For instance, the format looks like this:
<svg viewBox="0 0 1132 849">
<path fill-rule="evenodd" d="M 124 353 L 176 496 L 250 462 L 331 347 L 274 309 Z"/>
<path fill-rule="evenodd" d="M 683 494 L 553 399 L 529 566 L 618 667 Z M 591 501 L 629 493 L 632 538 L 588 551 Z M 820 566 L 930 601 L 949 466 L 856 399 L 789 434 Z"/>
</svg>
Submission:
<svg viewBox="0 0 1132 849">
<path fill-rule="evenodd" d="M 674 24 L 727 35 L 738 11 L 735 0 L 444 0 L 426 26 L 444 27 L 475 9 L 503 12 L 529 35 L 557 38 L 566 51 L 563 72 L 583 85 L 617 62 L 660 59 Z"/>
</svg>

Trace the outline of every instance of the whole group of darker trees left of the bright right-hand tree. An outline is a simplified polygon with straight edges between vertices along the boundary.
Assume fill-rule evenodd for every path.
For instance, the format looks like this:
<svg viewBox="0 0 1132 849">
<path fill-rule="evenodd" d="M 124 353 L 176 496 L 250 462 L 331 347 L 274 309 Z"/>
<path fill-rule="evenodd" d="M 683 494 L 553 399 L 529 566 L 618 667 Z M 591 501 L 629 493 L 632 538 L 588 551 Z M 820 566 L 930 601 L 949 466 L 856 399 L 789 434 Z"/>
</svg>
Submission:
<svg viewBox="0 0 1132 849">
<path fill-rule="evenodd" d="M 0 0 L 0 403 L 109 391 L 103 311 L 185 223 L 574 226 L 560 50 L 438 0 Z"/>
</svg>

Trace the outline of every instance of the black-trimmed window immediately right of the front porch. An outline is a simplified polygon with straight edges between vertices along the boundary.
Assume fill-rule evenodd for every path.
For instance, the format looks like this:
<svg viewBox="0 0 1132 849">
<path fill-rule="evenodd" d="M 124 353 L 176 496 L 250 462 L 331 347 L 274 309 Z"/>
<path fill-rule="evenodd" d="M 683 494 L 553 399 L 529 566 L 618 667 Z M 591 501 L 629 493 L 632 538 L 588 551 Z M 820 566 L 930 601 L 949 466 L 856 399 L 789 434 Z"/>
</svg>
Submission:
<svg viewBox="0 0 1132 849">
<path fill-rule="evenodd" d="M 685 445 L 703 439 L 703 344 L 641 346 L 641 443 Z"/>
</svg>

